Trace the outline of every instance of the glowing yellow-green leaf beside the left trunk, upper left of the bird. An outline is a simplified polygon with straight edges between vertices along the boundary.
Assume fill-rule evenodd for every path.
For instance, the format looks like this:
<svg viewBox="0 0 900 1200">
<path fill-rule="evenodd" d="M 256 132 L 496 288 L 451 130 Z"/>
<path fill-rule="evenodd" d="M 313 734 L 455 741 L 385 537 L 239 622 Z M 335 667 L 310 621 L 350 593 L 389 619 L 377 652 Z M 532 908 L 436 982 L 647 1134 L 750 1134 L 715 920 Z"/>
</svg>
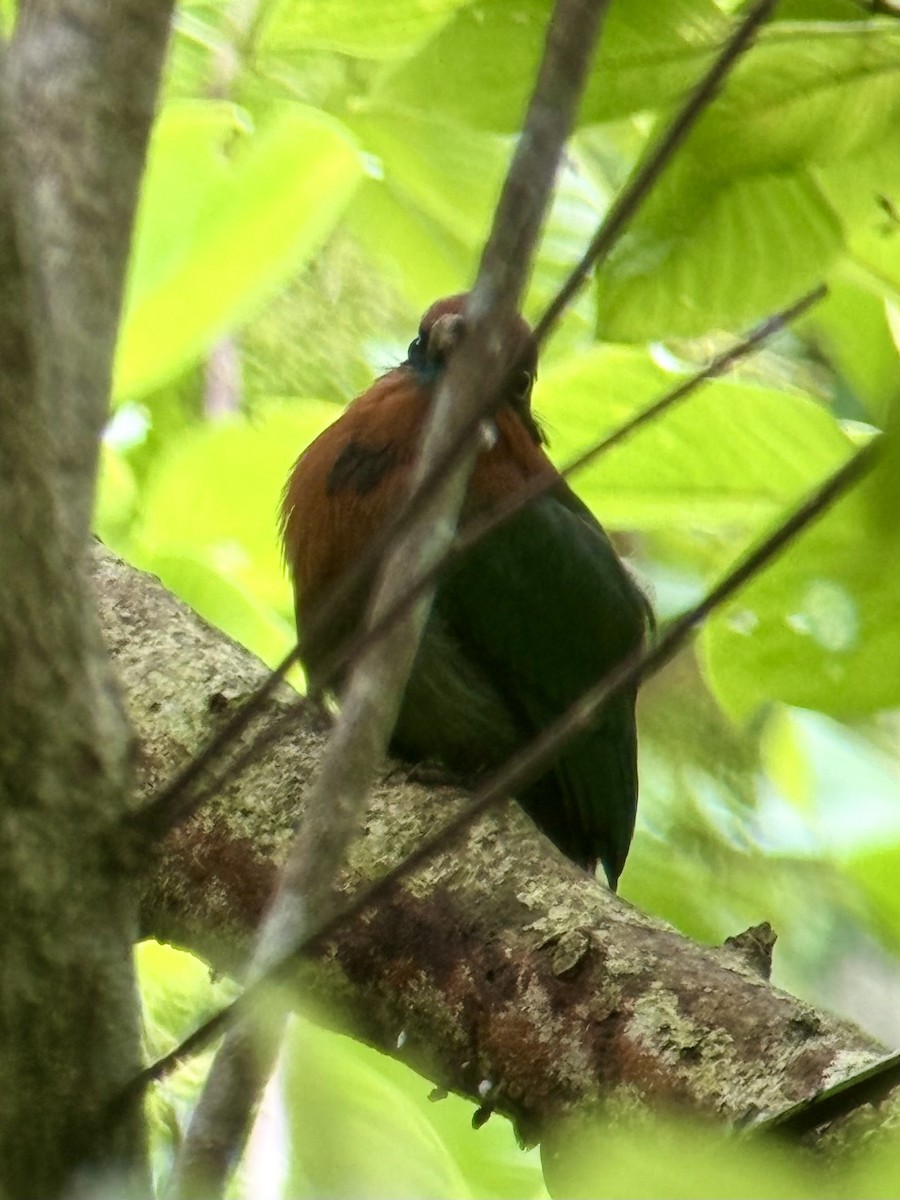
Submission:
<svg viewBox="0 0 900 1200">
<path fill-rule="evenodd" d="M 160 386 L 246 318 L 319 248 L 361 173 L 347 131 L 314 109 L 283 108 L 248 134 L 232 106 L 170 106 L 142 196 L 118 398 Z"/>
</svg>

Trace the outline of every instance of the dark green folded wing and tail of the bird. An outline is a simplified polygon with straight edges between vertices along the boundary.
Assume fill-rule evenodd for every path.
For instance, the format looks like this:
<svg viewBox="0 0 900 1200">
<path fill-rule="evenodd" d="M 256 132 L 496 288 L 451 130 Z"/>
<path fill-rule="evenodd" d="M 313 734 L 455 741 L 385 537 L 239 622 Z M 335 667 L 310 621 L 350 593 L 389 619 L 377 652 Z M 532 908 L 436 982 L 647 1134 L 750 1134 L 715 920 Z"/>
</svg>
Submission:
<svg viewBox="0 0 900 1200">
<path fill-rule="evenodd" d="M 559 488 L 469 551 L 442 581 L 440 619 L 520 724 L 539 732 L 642 642 L 649 607 L 600 524 Z M 613 700 L 518 797 L 575 862 L 612 887 L 637 804 L 634 691 Z"/>
</svg>

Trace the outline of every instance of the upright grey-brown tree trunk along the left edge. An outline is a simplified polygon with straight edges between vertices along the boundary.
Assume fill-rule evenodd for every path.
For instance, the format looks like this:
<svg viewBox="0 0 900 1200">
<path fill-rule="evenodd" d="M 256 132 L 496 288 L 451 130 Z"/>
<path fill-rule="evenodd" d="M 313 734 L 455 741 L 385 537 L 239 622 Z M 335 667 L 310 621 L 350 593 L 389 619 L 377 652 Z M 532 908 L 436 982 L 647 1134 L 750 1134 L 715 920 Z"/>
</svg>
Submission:
<svg viewBox="0 0 900 1200">
<path fill-rule="evenodd" d="M 85 546 L 170 4 L 30 0 L 0 61 L 0 1194 L 146 1186 L 131 732 Z M 89 1184 L 85 1183 L 85 1187 Z"/>
</svg>

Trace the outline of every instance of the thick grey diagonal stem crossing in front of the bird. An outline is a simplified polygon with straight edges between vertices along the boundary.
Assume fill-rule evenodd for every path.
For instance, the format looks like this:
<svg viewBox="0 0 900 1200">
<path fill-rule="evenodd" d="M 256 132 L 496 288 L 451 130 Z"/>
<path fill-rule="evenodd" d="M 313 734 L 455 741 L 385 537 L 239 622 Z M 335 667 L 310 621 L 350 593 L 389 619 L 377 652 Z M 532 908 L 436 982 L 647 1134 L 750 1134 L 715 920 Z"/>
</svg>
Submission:
<svg viewBox="0 0 900 1200">
<path fill-rule="evenodd" d="M 605 6 L 605 0 L 558 0 L 553 11 L 523 133 L 469 300 L 466 344 L 438 386 L 414 493 L 449 444 L 492 402 L 509 370 L 511 325 Z M 385 556 L 372 620 L 395 606 L 407 581 L 419 578 L 445 551 L 476 451 L 478 442 L 470 439 L 434 496 L 427 503 L 419 498 L 409 530 Z M 302 941 L 334 911 L 335 880 L 385 754 L 430 601 L 426 589 L 354 667 L 329 750 L 307 796 L 304 827 L 257 938 L 251 979 L 264 978 L 286 947 Z M 278 1002 L 277 1009 L 275 1004 L 270 995 L 260 1019 L 232 1028 L 216 1056 L 176 1168 L 175 1187 L 182 1195 L 220 1194 L 224 1187 L 277 1051 L 287 1004 Z"/>
</svg>

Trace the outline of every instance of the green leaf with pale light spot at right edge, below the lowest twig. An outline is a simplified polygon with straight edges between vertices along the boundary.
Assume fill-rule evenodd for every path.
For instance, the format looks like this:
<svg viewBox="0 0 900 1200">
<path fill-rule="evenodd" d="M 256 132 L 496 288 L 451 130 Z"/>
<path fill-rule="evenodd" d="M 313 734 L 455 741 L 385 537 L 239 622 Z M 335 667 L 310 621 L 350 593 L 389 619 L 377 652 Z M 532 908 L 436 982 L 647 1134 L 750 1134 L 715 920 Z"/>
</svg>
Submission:
<svg viewBox="0 0 900 1200">
<path fill-rule="evenodd" d="M 880 486 L 857 487 L 708 622 L 704 668 L 734 716 L 772 700 L 839 718 L 900 703 L 900 547 Z"/>
</svg>

